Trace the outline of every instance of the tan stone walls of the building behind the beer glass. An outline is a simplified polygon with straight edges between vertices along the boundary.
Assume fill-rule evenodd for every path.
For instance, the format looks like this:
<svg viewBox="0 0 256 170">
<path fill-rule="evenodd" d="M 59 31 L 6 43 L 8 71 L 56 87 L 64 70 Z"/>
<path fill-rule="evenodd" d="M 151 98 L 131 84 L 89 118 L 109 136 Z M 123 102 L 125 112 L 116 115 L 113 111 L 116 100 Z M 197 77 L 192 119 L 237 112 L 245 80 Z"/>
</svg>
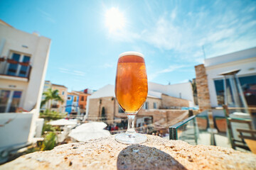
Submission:
<svg viewBox="0 0 256 170">
<path fill-rule="evenodd" d="M 163 101 L 165 106 L 186 106 L 188 101 L 182 98 L 174 98 L 171 96 L 163 95 L 160 98 L 146 98 L 149 102 L 149 109 L 140 109 L 137 113 L 137 118 L 152 117 L 153 123 L 159 122 L 166 125 L 174 125 L 179 121 L 187 118 L 188 111 L 174 110 L 174 109 L 159 109 L 162 107 Z M 156 103 L 157 109 L 154 109 Z M 119 104 L 114 97 L 91 98 L 89 103 L 89 114 L 87 120 L 100 120 L 102 117 L 102 107 L 105 108 L 105 115 L 107 116 L 108 123 L 113 123 L 115 118 L 126 119 L 125 113 L 119 113 Z"/>
</svg>

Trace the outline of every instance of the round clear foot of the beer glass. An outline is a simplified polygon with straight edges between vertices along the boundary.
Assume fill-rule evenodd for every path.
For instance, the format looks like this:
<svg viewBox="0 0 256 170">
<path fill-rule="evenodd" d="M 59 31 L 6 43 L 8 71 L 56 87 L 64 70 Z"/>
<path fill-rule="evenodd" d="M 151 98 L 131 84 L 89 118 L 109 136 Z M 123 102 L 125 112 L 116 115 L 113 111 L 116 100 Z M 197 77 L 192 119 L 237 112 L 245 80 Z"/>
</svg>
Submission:
<svg viewBox="0 0 256 170">
<path fill-rule="evenodd" d="M 139 144 L 146 142 L 146 136 L 137 132 L 119 133 L 114 136 L 114 139 L 117 140 L 117 142 L 124 144 Z"/>
</svg>

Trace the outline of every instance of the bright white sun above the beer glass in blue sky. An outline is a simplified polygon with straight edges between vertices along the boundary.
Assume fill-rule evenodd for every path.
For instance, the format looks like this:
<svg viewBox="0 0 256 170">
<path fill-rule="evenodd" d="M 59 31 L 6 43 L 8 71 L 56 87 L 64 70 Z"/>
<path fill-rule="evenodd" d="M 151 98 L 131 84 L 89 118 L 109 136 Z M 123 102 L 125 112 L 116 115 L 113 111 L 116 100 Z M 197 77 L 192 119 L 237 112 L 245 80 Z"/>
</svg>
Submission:
<svg viewBox="0 0 256 170">
<path fill-rule="evenodd" d="M 118 8 L 112 7 L 105 14 L 105 23 L 110 32 L 122 30 L 125 25 L 125 18 Z"/>
</svg>

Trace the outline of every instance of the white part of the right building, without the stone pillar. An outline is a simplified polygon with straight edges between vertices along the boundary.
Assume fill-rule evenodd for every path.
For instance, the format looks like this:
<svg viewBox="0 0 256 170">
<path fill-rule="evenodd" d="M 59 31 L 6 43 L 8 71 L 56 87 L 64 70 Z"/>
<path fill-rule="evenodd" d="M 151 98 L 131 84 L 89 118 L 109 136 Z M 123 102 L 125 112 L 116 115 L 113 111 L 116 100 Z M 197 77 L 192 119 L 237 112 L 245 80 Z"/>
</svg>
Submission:
<svg viewBox="0 0 256 170">
<path fill-rule="evenodd" d="M 219 74 L 240 69 L 237 76 L 248 106 L 256 106 L 256 47 L 212 57 L 204 61 L 208 77 L 210 106 L 224 103 L 223 76 Z"/>
</svg>

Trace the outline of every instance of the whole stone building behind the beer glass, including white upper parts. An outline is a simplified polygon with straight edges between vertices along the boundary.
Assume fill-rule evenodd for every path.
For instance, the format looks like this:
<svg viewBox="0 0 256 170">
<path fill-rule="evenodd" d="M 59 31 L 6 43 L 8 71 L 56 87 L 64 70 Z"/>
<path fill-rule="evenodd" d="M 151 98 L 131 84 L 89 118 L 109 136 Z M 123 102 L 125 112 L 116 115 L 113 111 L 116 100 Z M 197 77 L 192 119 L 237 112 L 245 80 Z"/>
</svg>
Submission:
<svg viewBox="0 0 256 170">
<path fill-rule="evenodd" d="M 146 98 L 146 102 L 142 109 L 137 113 L 137 126 L 142 125 L 145 120 L 148 124 L 156 123 L 157 121 L 164 119 L 165 123 L 171 121 L 173 116 L 186 116 L 187 111 L 181 111 L 182 107 L 193 106 L 193 92 L 191 84 L 180 84 L 180 86 L 173 85 L 173 88 L 178 87 L 176 90 L 169 88 L 171 85 L 161 85 L 149 82 L 149 92 Z M 183 91 L 188 91 L 190 95 L 184 94 L 186 98 L 181 98 Z M 188 90 L 187 90 L 188 89 Z M 159 91 L 158 91 L 159 90 Z M 169 96 L 173 94 L 179 96 Z M 187 98 L 190 98 L 189 101 Z M 99 89 L 91 96 L 87 97 L 87 120 L 116 120 L 127 118 L 122 108 L 114 95 L 114 85 L 107 85 Z"/>
</svg>

